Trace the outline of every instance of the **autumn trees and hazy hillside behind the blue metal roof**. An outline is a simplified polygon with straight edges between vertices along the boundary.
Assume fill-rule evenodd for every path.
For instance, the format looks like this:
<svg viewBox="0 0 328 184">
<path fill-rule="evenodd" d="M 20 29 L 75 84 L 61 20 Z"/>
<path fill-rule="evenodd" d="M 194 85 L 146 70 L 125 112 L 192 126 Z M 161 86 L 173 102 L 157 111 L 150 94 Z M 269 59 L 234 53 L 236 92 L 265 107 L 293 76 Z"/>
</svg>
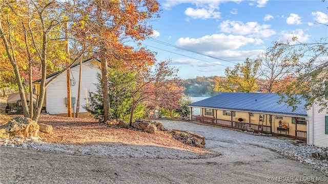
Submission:
<svg viewBox="0 0 328 184">
<path fill-rule="evenodd" d="M 327 26 L 327 25 L 325 25 Z M 312 43 L 276 41 L 255 59 L 246 58 L 233 68 L 226 68 L 225 77 L 186 79 L 188 95 L 214 95 L 220 92 L 277 93 L 281 102 L 292 107 L 306 101 L 328 105 L 328 38 Z M 301 98 L 300 98 L 301 97 Z"/>
</svg>

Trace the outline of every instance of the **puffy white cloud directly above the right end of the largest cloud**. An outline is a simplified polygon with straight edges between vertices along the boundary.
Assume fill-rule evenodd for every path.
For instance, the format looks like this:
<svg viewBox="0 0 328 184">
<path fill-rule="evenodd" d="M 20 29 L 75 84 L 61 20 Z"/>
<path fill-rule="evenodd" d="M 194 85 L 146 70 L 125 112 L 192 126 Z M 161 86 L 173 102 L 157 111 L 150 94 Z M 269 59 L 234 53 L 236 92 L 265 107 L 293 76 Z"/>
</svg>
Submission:
<svg viewBox="0 0 328 184">
<path fill-rule="evenodd" d="M 267 38 L 276 32 L 269 29 L 270 25 L 259 25 L 258 22 L 247 22 L 226 20 L 219 25 L 222 32 L 238 35 L 249 35 L 257 38 Z"/>
</svg>

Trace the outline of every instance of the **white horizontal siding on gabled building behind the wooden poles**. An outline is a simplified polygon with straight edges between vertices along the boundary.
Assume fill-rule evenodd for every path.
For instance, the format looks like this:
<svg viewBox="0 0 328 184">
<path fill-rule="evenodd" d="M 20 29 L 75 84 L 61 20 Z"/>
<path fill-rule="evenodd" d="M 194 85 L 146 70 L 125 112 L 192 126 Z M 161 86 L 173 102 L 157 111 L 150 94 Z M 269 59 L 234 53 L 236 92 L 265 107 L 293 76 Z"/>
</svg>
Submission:
<svg viewBox="0 0 328 184">
<path fill-rule="evenodd" d="M 90 67 L 90 63 L 93 63 L 93 67 Z M 87 112 L 83 106 L 87 103 L 86 95 L 89 98 L 88 91 L 95 91 L 95 84 L 98 83 L 97 73 L 100 73 L 99 64 L 96 61 L 88 61 L 82 65 L 82 79 L 81 79 L 81 91 L 80 91 L 80 107 L 79 112 Z M 79 65 L 71 68 L 71 79 L 75 79 L 75 85 L 71 85 L 71 97 L 75 98 L 74 112 L 76 112 L 77 94 L 78 94 L 78 80 L 79 80 Z M 67 107 L 65 104 L 65 98 L 67 98 L 67 82 L 66 72 L 58 76 L 47 87 L 47 103 L 46 109 L 50 114 L 67 113 Z M 86 93 L 85 93 L 86 91 Z M 72 103 L 73 104 L 73 103 Z M 72 105 L 73 106 L 73 105 Z M 73 109 L 72 109 L 73 112 Z"/>
</svg>

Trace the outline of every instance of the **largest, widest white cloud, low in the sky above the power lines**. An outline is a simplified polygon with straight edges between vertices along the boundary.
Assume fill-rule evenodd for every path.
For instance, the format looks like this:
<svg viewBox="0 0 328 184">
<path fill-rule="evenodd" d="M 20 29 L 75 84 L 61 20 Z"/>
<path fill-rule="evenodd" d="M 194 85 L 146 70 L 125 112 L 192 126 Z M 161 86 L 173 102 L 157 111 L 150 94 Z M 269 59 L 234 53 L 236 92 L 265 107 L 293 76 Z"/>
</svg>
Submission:
<svg viewBox="0 0 328 184">
<path fill-rule="evenodd" d="M 213 34 L 201 38 L 179 38 L 176 42 L 179 47 L 201 53 L 238 49 L 249 43 L 258 43 L 258 40 L 242 35 Z"/>
</svg>

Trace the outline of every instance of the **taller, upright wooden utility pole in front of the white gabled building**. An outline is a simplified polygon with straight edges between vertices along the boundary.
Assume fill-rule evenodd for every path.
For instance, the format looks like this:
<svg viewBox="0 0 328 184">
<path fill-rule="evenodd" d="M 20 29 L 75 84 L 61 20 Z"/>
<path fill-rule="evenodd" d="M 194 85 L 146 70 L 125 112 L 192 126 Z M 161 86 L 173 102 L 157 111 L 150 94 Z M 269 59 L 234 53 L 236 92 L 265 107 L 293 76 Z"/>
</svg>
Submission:
<svg viewBox="0 0 328 184">
<path fill-rule="evenodd" d="M 67 53 L 67 60 L 66 60 L 66 67 L 67 67 L 67 73 L 66 73 L 66 80 L 67 80 L 67 116 L 72 117 L 72 104 L 71 104 L 71 72 L 69 68 L 69 58 L 70 58 L 70 50 L 68 48 L 68 22 L 65 22 L 65 50 Z"/>
</svg>

